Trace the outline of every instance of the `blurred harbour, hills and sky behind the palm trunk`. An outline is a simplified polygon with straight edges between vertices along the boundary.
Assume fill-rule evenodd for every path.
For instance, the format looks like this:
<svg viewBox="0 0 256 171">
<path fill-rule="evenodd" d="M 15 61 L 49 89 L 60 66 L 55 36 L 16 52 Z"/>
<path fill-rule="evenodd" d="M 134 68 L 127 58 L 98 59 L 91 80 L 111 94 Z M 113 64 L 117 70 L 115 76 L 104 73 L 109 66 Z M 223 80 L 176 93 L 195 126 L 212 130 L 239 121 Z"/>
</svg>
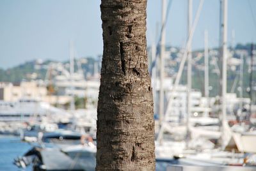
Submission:
<svg viewBox="0 0 256 171">
<path fill-rule="evenodd" d="M 255 7 L 148 0 L 157 170 L 255 165 Z M 94 170 L 100 1 L 1 0 L 0 23 L 0 170 Z"/>
</svg>

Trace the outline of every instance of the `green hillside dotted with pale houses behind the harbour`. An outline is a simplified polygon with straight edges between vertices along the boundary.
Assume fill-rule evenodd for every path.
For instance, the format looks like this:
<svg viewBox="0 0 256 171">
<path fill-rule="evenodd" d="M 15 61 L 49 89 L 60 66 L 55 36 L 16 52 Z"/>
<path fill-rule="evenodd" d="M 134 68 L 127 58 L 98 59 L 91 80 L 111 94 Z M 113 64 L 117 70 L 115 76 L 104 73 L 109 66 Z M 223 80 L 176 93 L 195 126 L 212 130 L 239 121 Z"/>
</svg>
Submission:
<svg viewBox="0 0 256 171">
<path fill-rule="evenodd" d="M 254 45 L 256 47 L 256 45 Z M 166 47 L 166 50 L 170 50 L 172 47 Z M 166 74 L 173 76 L 179 69 L 179 57 L 182 52 L 180 52 L 179 48 L 175 48 L 176 51 L 170 52 L 170 59 L 166 62 Z M 248 87 L 250 87 L 250 49 L 251 45 L 241 45 L 237 44 L 234 49 L 230 48 L 230 56 L 239 59 L 241 53 L 244 54 L 244 64 L 243 64 L 243 95 L 244 97 L 248 97 Z M 150 48 L 148 48 L 148 57 L 150 58 Z M 216 66 L 212 64 L 213 59 L 218 60 L 218 49 L 211 49 L 210 58 L 209 58 L 209 86 L 211 86 L 210 96 L 216 96 L 220 91 L 219 82 L 220 77 L 216 74 Z M 214 54 L 215 53 L 215 54 Z M 199 56 L 199 57 L 198 57 Z M 193 52 L 193 89 L 204 92 L 204 50 L 196 50 Z M 77 67 L 81 67 L 84 72 L 84 76 L 88 77 L 93 75 L 95 72 L 95 64 L 97 66 L 97 72 L 100 71 L 100 61 L 101 59 L 95 59 L 93 57 L 82 57 L 75 60 L 75 70 Z M 9 68 L 8 70 L 0 69 L 0 82 L 20 82 L 22 80 L 45 80 L 45 75 L 47 70 L 49 70 L 49 66 L 52 63 L 58 64 L 60 62 L 56 61 L 29 61 L 24 64 L 20 64 L 19 66 L 15 66 L 13 68 Z M 62 62 L 68 69 L 69 61 Z M 255 60 L 256 63 L 256 60 Z M 79 64 L 79 66 L 78 66 Z M 255 67 L 256 68 L 256 67 Z M 227 92 L 230 93 L 232 86 L 236 83 L 236 88 L 234 89 L 234 93 L 239 94 L 237 87 L 239 87 L 239 71 L 240 66 L 228 66 L 228 75 L 227 75 Z M 256 80 L 255 69 L 253 71 L 253 80 Z M 180 84 L 186 84 L 186 66 L 182 73 L 182 78 L 180 80 Z M 255 82 L 253 83 L 255 85 Z M 254 90 L 255 91 L 255 90 Z"/>
</svg>

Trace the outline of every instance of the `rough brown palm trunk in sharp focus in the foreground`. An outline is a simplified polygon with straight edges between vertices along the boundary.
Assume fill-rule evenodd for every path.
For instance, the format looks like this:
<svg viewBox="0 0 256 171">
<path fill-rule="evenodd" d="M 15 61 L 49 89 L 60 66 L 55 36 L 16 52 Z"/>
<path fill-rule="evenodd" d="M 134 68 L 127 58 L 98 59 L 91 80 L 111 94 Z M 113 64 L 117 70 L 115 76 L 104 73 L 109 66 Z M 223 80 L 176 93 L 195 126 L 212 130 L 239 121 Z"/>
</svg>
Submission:
<svg viewBox="0 0 256 171">
<path fill-rule="evenodd" d="M 97 170 L 155 170 L 147 0 L 102 0 Z"/>
</svg>

